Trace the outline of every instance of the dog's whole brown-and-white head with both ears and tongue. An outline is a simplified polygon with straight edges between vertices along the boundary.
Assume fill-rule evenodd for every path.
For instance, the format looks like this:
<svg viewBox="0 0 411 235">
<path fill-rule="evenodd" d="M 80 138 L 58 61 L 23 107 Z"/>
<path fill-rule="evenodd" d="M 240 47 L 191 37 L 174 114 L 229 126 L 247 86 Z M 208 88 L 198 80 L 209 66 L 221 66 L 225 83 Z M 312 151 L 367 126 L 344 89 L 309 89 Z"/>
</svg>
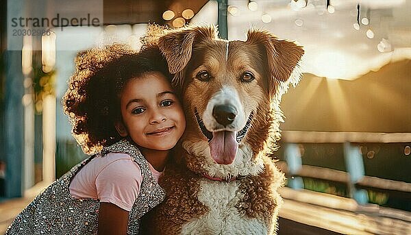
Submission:
<svg viewBox="0 0 411 235">
<path fill-rule="evenodd" d="M 256 160 L 280 119 L 271 104 L 303 55 L 301 47 L 268 32 L 250 31 L 245 42 L 216 35 L 212 26 L 186 27 L 158 42 L 182 89 L 188 119 L 183 145 L 192 168 L 229 169 Z"/>
</svg>

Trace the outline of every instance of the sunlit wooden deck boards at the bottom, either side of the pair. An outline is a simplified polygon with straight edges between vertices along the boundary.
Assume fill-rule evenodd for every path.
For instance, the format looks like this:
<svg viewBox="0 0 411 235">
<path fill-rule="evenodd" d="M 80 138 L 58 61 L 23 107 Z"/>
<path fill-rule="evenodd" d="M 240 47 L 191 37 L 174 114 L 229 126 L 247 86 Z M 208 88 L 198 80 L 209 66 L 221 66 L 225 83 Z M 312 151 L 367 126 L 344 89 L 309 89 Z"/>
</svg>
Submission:
<svg viewBox="0 0 411 235">
<path fill-rule="evenodd" d="M 47 185 L 38 184 L 25 197 L 0 203 L 0 234 L 14 217 Z M 279 235 L 411 234 L 411 212 L 360 206 L 353 199 L 309 190 L 280 190 Z"/>
</svg>

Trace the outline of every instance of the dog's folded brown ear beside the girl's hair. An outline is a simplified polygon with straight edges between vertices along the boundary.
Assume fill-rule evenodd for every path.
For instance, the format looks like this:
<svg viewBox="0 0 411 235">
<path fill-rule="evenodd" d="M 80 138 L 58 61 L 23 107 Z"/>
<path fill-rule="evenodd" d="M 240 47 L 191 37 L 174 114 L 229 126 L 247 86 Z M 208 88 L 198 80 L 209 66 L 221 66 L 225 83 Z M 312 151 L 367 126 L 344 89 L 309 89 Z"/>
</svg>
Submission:
<svg viewBox="0 0 411 235">
<path fill-rule="evenodd" d="M 179 73 L 186 67 L 191 58 L 192 45 L 196 40 L 215 39 L 217 35 L 214 25 L 197 25 L 171 30 L 159 38 L 158 48 L 169 64 L 170 73 Z"/>
</svg>

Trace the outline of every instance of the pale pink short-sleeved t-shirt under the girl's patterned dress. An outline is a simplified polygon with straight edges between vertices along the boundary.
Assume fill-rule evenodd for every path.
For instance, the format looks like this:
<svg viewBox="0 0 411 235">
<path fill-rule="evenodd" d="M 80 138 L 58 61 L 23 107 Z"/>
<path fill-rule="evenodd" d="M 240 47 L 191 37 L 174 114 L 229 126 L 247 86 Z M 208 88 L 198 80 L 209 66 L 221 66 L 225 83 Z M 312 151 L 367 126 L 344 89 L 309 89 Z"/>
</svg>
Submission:
<svg viewBox="0 0 411 235">
<path fill-rule="evenodd" d="M 149 168 L 156 181 L 162 172 Z M 138 194 L 142 175 L 140 166 L 127 153 L 108 153 L 93 158 L 73 177 L 70 194 L 76 199 L 94 198 L 130 211 Z"/>
</svg>

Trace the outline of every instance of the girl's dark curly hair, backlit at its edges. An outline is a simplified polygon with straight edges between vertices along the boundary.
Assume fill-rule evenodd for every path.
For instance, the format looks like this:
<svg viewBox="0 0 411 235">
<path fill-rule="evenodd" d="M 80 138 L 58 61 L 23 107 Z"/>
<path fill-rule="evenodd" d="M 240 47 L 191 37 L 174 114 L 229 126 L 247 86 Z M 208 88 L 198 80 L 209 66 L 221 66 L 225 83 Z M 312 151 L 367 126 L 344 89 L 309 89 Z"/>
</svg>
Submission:
<svg viewBox="0 0 411 235">
<path fill-rule="evenodd" d="M 88 154 L 122 138 L 114 123 L 121 120 L 120 95 L 129 79 L 153 71 L 171 79 L 155 45 L 139 52 L 120 44 L 90 49 L 78 53 L 75 67 L 62 104 L 73 136 Z"/>
</svg>

